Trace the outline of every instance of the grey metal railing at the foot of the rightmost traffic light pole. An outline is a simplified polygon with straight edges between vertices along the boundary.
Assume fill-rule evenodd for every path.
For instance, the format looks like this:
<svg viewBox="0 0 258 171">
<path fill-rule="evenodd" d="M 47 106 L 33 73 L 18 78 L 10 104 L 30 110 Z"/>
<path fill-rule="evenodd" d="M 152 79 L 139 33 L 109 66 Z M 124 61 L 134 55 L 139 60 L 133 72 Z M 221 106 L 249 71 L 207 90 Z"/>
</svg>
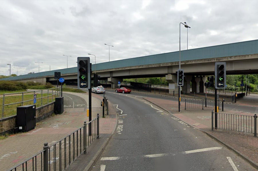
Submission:
<svg viewBox="0 0 258 171">
<path fill-rule="evenodd" d="M 216 116 L 217 125 L 213 122 L 216 120 Z M 257 115 L 248 116 L 240 114 L 215 113 L 212 110 L 212 130 L 214 130 L 214 128 L 252 133 L 257 137 Z"/>
</svg>

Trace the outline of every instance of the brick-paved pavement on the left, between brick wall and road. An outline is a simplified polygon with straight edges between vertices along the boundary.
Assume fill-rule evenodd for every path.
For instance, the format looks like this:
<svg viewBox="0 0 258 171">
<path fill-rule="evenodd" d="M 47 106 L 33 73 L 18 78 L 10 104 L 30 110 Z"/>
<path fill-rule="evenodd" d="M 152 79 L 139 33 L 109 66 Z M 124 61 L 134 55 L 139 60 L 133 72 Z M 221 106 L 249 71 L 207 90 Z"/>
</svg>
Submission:
<svg viewBox="0 0 258 171">
<path fill-rule="evenodd" d="M 85 99 L 86 104 L 89 104 L 88 93 L 64 93 L 78 95 Z M 102 98 L 100 100 L 94 97 L 94 94 L 92 95 L 92 119 L 97 117 L 97 113 L 100 114 L 99 133 L 104 140 L 104 137 L 110 137 L 115 130 L 117 123 L 116 113 L 112 111 L 113 108 L 111 106 L 110 110 L 113 115 L 102 118 L 102 107 L 100 106 Z M 50 145 L 81 128 L 85 119 L 89 120 L 86 109 L 84 107 L 64 108 L 62 114 L 51 116 L 37 123 L 34 130 L 13 134 L 8 138 L 0 140 L 0 170 L 7 170 L 43 150 L 44 142 L 48 142 Z"/>
</svg>

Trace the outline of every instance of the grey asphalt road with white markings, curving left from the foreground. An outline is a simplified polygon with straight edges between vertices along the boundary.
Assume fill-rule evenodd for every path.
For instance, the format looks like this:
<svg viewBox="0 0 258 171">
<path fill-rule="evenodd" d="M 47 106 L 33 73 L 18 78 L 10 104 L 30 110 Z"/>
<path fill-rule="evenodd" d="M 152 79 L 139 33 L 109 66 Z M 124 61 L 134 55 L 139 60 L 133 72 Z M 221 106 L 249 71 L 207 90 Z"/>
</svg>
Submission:
<svg viewBox="0 0 258 171">
<path fill-rule="evenodd" d="M 93 171 L 255 170 L 222 144 L 143 100 L 141 94 L 106 91 L 105 96 L 117 110 L 118 124 Z"/>
</svg>

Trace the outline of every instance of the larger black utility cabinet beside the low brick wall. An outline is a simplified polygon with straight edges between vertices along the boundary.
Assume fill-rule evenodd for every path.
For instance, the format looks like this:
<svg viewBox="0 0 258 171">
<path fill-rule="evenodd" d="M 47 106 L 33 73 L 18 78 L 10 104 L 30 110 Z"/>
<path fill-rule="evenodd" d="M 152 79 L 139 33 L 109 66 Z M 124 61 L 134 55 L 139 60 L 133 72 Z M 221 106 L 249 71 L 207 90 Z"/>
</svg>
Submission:
<svg viewBox="0 0 258 171">
<path fill-rule="evenodd" d="M 29 131 L 36 126 L 36 105 L 17 107 L 16 126 L 19 132 Z"/>
</svg>

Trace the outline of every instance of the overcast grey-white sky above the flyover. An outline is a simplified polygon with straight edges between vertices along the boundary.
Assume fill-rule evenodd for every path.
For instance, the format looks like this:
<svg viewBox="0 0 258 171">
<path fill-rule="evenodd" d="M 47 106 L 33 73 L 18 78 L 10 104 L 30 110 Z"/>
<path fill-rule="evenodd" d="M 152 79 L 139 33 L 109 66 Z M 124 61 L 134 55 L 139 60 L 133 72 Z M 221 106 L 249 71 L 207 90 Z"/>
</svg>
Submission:
<svg viewBox="0 0 258 171">
<path fill-rule="evenodd" d="M 258 39 L 257 0 L 0 0 L 0 75 Z M 181 25 L 181 50 L 187 29 Z M 42 63 L 35 63 L 42 62 Z M 40 66 L 40 67 L 38 67 Z M 14 68 L 15 67 L 15 68 Z M 19 67 L 19 68 L 17 68 Z"/>
</svg>

